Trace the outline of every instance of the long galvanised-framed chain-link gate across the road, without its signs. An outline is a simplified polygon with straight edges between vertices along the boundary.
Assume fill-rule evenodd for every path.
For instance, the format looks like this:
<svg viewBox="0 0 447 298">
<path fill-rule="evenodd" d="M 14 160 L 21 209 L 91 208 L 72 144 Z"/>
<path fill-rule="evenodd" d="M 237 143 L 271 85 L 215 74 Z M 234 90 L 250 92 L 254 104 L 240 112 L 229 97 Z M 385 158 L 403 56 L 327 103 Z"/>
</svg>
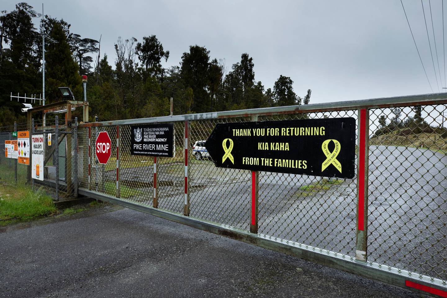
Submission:
<svg viewBox="0 0 447 298">
<path fill-rule="evenodd" d="M 439 93 L 84 123 L 78 130 L 79 193 L 447 297 L 447 133 L 444 118 L 439 122 L 446 104 L 447 93 Z M 303 114 L 357 118 L 353 180 L 214 168 L 191 154 L 218 122 Z M 385 126 L 380 116 L 391 122 Z M 129 155 L 130 125 L 157 122 L 173 123 L 175 156 Z M 389 127 L 395 133 L 380 134 Z M 105 167 L 95 164 L 93 151 L 104 130 L 116 139 Z"/>
</svg>

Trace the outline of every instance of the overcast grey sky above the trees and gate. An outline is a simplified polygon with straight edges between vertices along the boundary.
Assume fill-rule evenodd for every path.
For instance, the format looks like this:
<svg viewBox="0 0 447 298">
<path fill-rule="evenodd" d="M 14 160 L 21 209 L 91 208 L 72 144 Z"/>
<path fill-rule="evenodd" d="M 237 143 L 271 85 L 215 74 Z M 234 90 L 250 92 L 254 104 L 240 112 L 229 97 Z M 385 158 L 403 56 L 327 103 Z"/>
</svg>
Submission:
<svg viewBox="0 0 447 298">
<path fill-rule="evenodd" d="M 3 0 L 0 9 L 10 11 L 17 2 Z M 433 91 L 438 92 L 421 2 L 403 2 Z M 42 0 L 27 3 L 41 12 Z M 442 90 L 442 2 L 431 1 L 441 78 L 429 2 L 424 4 Z M 44 10 L 63 18 L 82 37 L 99 39 L 102 34 L 101 55 L 107 53 L 112 65 L 118 36 L 140 41 L 155 34 L 170 51 L 164 67 L 179 65 L 182 53 L 194 44 L 210 50 L 211 59 L 225 59 L 228 69 L 246 52 L 253 57 L 255 80 L 266 89 L 273 88 L 279 75 L 290 76 L 298 95 L 312 89 L 311 103 L 431 93 L 400 0 L 45 0 Z"/>
</svg>

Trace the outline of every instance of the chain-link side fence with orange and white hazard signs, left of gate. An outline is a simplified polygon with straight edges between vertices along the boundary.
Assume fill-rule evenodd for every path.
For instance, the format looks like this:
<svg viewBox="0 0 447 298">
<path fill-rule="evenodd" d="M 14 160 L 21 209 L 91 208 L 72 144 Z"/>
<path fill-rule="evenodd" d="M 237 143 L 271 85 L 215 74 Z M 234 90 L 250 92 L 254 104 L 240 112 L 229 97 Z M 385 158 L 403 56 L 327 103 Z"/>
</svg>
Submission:
<svg viewBox="0 0 447 298">
<path fill-rule="evenodd" d="M 32 119 L 3 127 L 0 179 L 42 189 L 56 201 L 77 196 L 76 123 Z M 5 144 L 3 146 L 3 144 Z M 9 145 L 9 147 L 8 147 Z"/>
</svg>

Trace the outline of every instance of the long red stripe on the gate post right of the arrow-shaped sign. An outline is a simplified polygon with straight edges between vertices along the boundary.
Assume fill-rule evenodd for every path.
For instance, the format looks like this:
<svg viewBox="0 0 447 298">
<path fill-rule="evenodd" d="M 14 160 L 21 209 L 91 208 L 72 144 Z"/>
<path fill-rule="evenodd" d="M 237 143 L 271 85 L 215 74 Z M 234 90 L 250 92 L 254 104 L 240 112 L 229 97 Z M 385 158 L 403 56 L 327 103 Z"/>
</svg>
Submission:
<svg viewBox="0 0 447 298">
<path fill-rule="evenodd" d="M 358 230 L 364 231 L 365 210 L 365 136 L 366 136 L 366 109 L 360 110 L 360 135 L 358 146 Z"/>
</svg>

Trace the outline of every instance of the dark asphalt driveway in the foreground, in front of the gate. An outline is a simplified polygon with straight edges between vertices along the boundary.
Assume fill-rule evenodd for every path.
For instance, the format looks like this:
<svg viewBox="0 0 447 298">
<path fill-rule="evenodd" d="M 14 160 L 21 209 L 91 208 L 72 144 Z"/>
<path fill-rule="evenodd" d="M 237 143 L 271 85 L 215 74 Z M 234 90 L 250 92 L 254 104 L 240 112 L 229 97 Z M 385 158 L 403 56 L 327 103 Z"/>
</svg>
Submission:
<svg viewBox="0 0 447 298">
<path fill-rule="evenodd" d="M 0 230 L 0 297 L 423 297 L 138 211 Z"/>
</svg>

